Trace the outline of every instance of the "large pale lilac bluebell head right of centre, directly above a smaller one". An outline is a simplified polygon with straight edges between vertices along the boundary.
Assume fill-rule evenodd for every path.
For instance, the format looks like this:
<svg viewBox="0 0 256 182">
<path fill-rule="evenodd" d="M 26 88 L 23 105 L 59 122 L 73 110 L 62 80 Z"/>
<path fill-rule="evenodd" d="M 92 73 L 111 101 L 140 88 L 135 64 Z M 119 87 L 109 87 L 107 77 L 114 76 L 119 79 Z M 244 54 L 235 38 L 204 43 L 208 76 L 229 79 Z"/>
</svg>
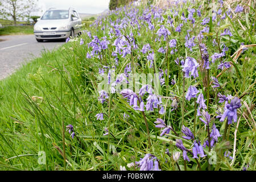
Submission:
<svg viewBox="0 0 256 182">
<path fill-rule="evenodd" d="M 183 69 L 182 71 L 185 72 L 185 78 L 189 78 L 189 72 L 191 72 L 191 75 L 196 78 L 198 77 L 197 68 L 199 67 L 199 63 L 193 58 L 193 57 L 187 57 L 185 59 L 184 65 L 181 66 Z"/>
</svg>

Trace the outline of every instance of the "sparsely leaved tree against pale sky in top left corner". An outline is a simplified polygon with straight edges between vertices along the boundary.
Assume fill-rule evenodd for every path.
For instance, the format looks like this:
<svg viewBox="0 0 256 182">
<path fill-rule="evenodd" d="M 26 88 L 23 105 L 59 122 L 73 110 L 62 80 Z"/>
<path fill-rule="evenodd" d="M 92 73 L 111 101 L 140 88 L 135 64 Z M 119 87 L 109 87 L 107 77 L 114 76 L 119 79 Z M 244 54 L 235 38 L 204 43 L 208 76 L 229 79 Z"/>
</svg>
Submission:
<svg viewBox="0 0 256 182">
<path fill-rule="evenodd" d="M 0 12 L 3 18 L 13 18 L 14 24 L 18 19 L 28 18 L 36 11 L 38 0 L 1 0 Z"/>
</svg>

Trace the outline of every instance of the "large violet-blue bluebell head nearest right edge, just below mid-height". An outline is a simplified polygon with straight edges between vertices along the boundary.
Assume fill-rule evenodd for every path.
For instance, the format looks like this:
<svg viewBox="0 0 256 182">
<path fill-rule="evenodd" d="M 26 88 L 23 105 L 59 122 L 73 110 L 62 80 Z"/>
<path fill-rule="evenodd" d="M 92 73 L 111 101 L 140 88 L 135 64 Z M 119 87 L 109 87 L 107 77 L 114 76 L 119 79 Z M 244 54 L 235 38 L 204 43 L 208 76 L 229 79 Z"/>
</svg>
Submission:
<svg viewBox="0 0 256 182">
<path fill-rule="evenodd" d="M 237 122 L 237 109 L 241 106 L 240 99 L 237 97 L 233 98 L 233 100 L 230 101 L 230 104 L 225 105 L 225 111 L 220 118 L 220 122 L 223 122 L 226 117 L 228 117 L 229 125 L 232 121 Z"/>
</svg>

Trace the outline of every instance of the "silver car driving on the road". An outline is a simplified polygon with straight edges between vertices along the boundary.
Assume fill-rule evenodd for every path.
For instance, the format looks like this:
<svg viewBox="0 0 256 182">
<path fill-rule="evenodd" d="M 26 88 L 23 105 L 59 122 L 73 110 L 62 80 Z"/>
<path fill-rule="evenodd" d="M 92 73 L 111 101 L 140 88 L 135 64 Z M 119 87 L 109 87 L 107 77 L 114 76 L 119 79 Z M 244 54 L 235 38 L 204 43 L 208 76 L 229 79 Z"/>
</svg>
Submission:
<svg viewBox="0 0 256 182">
<path fill-rule="evenodd" d="M 34 34 L 38 42 L 49 39 L 67 39 L 80 35 L 82 20 L 72 8 L 68 10 L 49 9 L 38 19 L 34 26 Z"/>
</svg>

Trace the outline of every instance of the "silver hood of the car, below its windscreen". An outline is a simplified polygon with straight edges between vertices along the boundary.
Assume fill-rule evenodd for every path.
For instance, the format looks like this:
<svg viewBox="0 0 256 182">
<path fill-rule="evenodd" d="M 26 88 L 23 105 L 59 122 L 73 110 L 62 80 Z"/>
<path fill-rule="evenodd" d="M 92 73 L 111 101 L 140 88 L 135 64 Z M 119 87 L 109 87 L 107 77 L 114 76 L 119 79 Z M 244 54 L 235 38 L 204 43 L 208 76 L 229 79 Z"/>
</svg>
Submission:
<svg viewBox="0 0 256 182">
<path fill-rule="evenodd" d="M 60 27 L 69 24 L 69 19 L 41 19 L 35 26 L 39 27 Z"/>
</svg>

